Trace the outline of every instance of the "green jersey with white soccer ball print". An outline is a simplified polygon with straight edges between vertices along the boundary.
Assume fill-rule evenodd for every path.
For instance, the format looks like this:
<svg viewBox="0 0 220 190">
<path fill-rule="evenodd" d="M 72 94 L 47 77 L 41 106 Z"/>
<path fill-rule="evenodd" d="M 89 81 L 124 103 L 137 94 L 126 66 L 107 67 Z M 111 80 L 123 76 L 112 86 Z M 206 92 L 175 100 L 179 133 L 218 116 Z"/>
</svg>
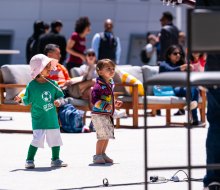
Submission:
<svg viewBox="0 0 220 190">
<path fill-rule="evenodd" d="M 58 87 L 55 81 L 50 81 Z M 27 85 L 23 102 L 25 105 L 31 104 L 33 130 L 58 129 L 60 127 L 54 100 L 63 96 L 63 92 L 49 82 L 39 83 L 32 80 Z"/>
</svg>

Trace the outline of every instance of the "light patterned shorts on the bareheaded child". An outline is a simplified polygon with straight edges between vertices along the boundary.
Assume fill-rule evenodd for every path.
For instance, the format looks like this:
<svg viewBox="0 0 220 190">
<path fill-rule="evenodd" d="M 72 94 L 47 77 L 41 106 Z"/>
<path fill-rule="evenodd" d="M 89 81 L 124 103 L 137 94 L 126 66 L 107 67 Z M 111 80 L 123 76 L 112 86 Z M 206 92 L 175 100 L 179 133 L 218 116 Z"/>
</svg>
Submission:
<svg viewBox="0 0 220 190">
<path fill-rule="evenodd" d="M 114 124 L 109 115 L 92 114 L 92 123 L 96 130 L 97 139 L 114 139 Z"/>
</svg>

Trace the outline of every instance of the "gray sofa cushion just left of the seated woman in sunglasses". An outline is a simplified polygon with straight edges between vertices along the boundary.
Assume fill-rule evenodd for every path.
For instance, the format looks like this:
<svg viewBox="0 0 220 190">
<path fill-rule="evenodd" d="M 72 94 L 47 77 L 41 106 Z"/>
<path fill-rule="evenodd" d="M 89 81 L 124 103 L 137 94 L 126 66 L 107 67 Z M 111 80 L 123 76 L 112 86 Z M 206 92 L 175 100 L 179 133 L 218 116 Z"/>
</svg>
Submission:
<svg viewBox="0 0 220 190">
<path fill-rule="evenodd" d="M 150 77 L 159 73 L 159 66 L 144 65 L 142 67 L 142 72 L 143 72 L 143 80 L 146 81 Z M 147 87 L 147 94 L 153 95 L 153 86 Z"/>
</svg>

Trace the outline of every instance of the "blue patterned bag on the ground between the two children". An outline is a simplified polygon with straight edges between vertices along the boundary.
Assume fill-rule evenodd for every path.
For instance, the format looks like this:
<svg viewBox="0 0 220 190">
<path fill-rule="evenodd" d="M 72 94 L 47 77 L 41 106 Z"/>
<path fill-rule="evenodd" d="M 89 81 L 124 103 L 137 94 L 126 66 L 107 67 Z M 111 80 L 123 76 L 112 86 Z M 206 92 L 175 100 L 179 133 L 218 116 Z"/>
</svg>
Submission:
<svg viewBox="0 0 220 190">
<path fill-rule="evenodd" d="M 81 133 L 84 126 L 84 111 L 76 109 L 72 104 L 59 107 L 58 117 L 62 129 L 67 133 Z"/>
</svg>

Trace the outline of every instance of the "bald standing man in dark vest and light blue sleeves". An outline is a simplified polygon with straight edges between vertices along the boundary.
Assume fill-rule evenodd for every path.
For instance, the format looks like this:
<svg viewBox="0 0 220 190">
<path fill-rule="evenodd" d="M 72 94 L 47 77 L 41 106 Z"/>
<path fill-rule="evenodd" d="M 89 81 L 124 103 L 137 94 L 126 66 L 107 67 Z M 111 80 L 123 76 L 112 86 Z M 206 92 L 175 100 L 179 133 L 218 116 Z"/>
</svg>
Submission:
<svg viewBox="0 0 220 190">
<path fill-rule="evenodd" d="M 119 64 L 121 57 L 121 43 L 119 37 L 113 33 L 113 21 L 106 19 L 104 32 L 96 33 L 92 39 L 92 49 L 100 59 L 111 59 Z"/>
</svg>

